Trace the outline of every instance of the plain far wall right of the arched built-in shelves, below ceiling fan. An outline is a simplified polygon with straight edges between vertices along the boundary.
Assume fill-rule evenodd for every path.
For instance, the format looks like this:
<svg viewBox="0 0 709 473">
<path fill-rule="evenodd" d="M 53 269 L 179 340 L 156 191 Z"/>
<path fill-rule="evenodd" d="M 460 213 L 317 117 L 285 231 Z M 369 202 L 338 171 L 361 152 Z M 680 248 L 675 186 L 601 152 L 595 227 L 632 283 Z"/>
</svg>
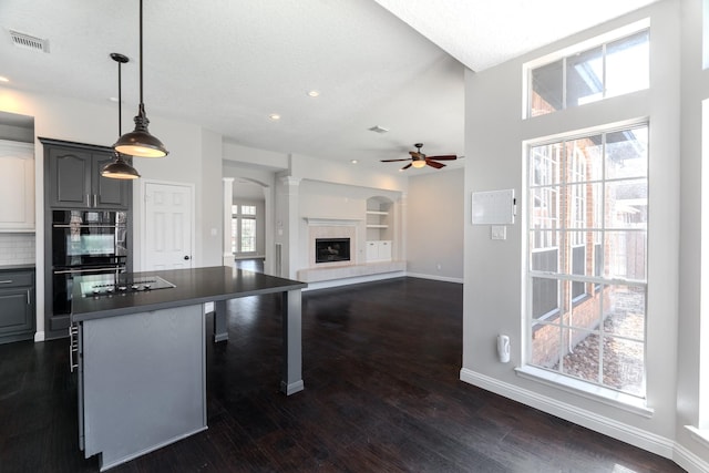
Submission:
<svg viewBox="0 0 709 473">
<path fill-rule="evenodd" d="M 407 274 L 463 281 L 464 169 L 412 174 L 407 194 Z"/>
</svg>

